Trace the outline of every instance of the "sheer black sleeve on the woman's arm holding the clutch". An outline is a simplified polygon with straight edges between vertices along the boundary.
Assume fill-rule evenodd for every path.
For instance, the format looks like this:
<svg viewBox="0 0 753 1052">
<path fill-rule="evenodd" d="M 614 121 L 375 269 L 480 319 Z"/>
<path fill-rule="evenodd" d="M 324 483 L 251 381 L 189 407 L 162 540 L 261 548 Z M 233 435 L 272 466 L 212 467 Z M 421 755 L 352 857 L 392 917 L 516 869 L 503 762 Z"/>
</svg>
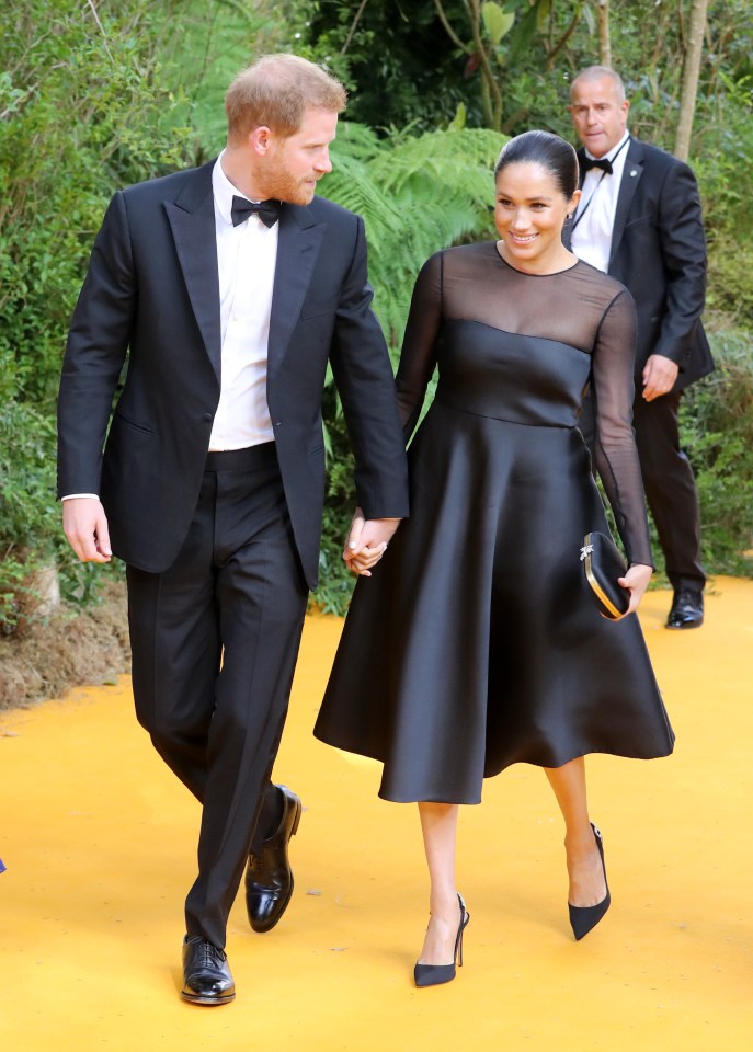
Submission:
<svg viewBox="0 0 753 1052">
<path fill-rule="evenodd" d="M 643 483 L 632 433 L 636 309 L 618 293 L 596 334 L 592 392 L 596 418 L 594 460 L 630 563 L 652 567 Z"/>
</svg>

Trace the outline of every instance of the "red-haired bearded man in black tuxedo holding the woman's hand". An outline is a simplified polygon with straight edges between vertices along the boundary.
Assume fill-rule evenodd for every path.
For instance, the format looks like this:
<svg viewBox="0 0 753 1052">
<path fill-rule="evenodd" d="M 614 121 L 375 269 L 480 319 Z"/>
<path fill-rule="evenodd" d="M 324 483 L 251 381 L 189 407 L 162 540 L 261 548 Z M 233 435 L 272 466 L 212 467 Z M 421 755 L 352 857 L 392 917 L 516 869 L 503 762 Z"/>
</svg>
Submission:
<svg viewBox="0 0 753 1052">
<path fill-rule="evenodd" d="M 328 361 L 363 507 L 354 572 L 408 511 L 363 221 L 315 196 L 344 105 L 295 56 L 240 73 L 216 161 L 115 194 L 62 368 L 64 528 L 80 559 L 126 562 L 137 716 L 203 804 L 183 942 L 196 1004 L 235 996 L 225 938 L 244 866 L 255 930 L 293 891 L 301 805 L 270 774 L 317 583 Z"/>
</svg>

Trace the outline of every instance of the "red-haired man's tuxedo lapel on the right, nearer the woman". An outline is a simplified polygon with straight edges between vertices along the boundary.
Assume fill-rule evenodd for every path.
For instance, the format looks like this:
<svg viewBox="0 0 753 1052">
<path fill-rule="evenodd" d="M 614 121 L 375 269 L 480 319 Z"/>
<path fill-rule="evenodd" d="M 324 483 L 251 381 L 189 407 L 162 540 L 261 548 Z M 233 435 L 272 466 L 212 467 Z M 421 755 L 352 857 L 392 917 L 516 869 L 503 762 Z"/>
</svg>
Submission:
<svg viewBox="0 0 753 1052">
<path fill-rule="evenodd" d="M 277 371 L 287 351 L 326 230 L 327 224 L 317 222 L 308 208 L 283 206 L 270 317 L 270 376 Z"/>
</svg>

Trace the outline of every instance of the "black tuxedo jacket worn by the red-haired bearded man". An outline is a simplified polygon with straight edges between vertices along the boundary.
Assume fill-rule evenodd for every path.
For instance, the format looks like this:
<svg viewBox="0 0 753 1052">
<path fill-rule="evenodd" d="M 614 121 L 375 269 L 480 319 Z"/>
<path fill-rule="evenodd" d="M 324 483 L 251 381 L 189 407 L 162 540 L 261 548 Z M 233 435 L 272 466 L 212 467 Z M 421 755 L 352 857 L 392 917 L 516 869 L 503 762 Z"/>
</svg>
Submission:
<svg viewBox="0 0 753 1052">
<path fill-rule="evenodd" d="M 58 495 L 99 493 L 115 554 L 156 573 L 174 561 L 186 536 L 219 401 L 213 165 L 115 194 L 73 313 L 60 382 Z M 310 587 L 324 496 L 328 362 L 366 517 L 408 514 L 392 370 L 370 300 L 361 218 L 318 197 L 305 207 L 284 205 L 267 403 Z"/>
</svg>

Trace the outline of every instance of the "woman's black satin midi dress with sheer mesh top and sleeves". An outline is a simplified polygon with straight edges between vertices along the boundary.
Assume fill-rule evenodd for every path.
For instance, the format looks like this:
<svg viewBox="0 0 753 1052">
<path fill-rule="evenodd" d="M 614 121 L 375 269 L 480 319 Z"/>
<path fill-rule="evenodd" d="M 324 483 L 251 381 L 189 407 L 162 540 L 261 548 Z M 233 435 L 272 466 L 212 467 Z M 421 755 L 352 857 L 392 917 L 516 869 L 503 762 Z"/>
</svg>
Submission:
<svg viewBox="0 0 753 1052">
<path fill-rule="evenodd" d="M 358 581 L 317 737 L 384 763 L 379 794 L 478 803 L 515 763 L 672 752 L 635 615 L 613 622 L 580 564 L 607 530 L 578 428 L 632 562 L 651 564 L 631 427 L 635 307 L 586 263 L 552 275 L 497 244 L 448 249 L 417 281 L 397 385 L 411 516 Z"/>
</svg>

